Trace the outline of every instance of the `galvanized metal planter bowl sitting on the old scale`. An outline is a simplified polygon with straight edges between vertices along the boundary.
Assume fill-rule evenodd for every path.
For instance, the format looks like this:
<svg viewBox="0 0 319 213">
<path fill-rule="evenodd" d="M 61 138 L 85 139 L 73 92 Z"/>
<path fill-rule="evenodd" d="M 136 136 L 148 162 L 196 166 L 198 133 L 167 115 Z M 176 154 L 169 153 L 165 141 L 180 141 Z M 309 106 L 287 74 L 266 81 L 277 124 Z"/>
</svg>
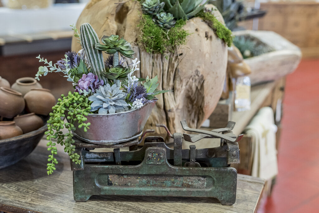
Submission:
<svg viewBox="0 0 319 213">
<path fill-rule="evenodd" d="M 88 143 L 112 145 L 130 141 L 142 135 L 145 123 L 150 116 L 157 99 L 143 107 L 115 114 L 89 114 L 90 129 L 73 131 L 74 136 Z"/>
</svg>

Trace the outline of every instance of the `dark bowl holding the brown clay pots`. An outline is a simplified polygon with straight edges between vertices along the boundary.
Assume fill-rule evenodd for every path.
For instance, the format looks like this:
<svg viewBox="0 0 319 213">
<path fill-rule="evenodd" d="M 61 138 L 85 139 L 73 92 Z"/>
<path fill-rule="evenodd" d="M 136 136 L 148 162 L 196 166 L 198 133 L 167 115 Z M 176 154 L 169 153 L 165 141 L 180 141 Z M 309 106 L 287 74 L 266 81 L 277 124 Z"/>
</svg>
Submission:
<svg viewBox="0 0 319 213">
<path fill-rule="evenodd" d="M 0 140 L 0 169 L 15 164 L 28 156 L 38 145 L 47 129 L 45 123 L 40 129 Z"/>
</svg>

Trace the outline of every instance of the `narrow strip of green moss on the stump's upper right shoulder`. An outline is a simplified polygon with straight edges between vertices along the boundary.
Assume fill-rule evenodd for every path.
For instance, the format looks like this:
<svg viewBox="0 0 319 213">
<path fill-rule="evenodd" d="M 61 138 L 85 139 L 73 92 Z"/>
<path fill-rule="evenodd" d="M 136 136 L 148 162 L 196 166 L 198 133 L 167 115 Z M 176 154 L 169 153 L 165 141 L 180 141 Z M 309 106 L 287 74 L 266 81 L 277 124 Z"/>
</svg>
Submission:
<svg viewBox="0 0 319 213">
<path fill-rule="evenodd" d="M 211 14 L 211 12 L 204 12 L 200 11 L 197 14 L 198 17 L 202 18 L 208 26 L 213 29 L 213 31 L 216 33 L 216 35 L 225 41 L 225 43 L 230 47 L 233 43 L 233 36 L 232 36 L 232 31 L 229 30 L 226 26 L 224 26 L 222 23 L 220 23 L 217 18 Z"/>
</svg>

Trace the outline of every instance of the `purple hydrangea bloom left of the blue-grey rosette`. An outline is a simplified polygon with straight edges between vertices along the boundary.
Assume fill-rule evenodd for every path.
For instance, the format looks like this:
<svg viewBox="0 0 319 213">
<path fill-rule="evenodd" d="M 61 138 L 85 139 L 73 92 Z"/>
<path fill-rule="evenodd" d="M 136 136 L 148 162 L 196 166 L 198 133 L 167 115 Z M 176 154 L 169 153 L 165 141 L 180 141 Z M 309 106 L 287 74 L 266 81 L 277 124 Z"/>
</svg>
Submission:
<svg viewBox="0 0 319 213">
<path fill-rule="evenodd" d="M 89 72 L 87 75 L 83 74 L 82 78 L 78 81 L 78 84 L 75 86 L 75 92 L 80 90 L 88 92 L 89 90 L 92 93 L 95 92 L 101 85 L 104 84 L 103 80 L 99 80 L 97 75 L 94 75 L 92 72 Z"/>
</svg>

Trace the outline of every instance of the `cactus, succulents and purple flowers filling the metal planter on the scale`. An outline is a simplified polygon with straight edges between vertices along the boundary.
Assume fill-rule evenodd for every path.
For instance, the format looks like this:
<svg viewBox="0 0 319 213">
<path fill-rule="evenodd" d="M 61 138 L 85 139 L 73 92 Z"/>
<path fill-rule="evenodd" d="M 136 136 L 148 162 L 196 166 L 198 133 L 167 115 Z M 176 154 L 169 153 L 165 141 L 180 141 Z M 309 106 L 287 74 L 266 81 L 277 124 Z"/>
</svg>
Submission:
<svg viewBox="0 0 319 213">
<path fill-rule="evenodd" d="M 136 110 L 145 104 L 154 101 L 154 96 L 167 91 L 157 90 L 159 85 L 157 76 L 146 78 L 145 83 L 134 76 L 134 72 L 140 61 L 137 58 L 125 66 L 123 57 L 119 60 L 119 54 L 127 58 L 133 58 L 134 51 L 130 43 L 118 35 L 103 36 L 102 43 L 92 26 L 84 23 L 80 27 L 80 33 L 75 29 L 75 36 L 79 38 L 82 49 L 76 52 L 67 52 L 64 59 L 55 64 L 52 61 L 36 58 L 44 62 L 40 66 L 35 78 L 46 76 L 50 72 L 61 72 L 67 81 L 72 82 L 75 91 L 67 96 L 61 95 L 58 102 L 52 107 L 48 120 L 47 146 L 49 155 L 47 173 L 52 174 L 58 163 L 54 155 L 57 154 L 56 143 L 64 146 L 64 151 L 70 159 L 79 164 L 79 155 L 75 153 L 72 131 L 83 128 L 87 132 L 91 125 L 87 121 L 88 114 L 114 114 L 130 110 Z M 102 52 L 110 56 L 104 60 Z M 67 121 L 63 121 L 64 118 Z M 62 129 L 68 129 L 63 134 Z M 55 142 L 56 140 L 56 142 Z"/>
</svg>

